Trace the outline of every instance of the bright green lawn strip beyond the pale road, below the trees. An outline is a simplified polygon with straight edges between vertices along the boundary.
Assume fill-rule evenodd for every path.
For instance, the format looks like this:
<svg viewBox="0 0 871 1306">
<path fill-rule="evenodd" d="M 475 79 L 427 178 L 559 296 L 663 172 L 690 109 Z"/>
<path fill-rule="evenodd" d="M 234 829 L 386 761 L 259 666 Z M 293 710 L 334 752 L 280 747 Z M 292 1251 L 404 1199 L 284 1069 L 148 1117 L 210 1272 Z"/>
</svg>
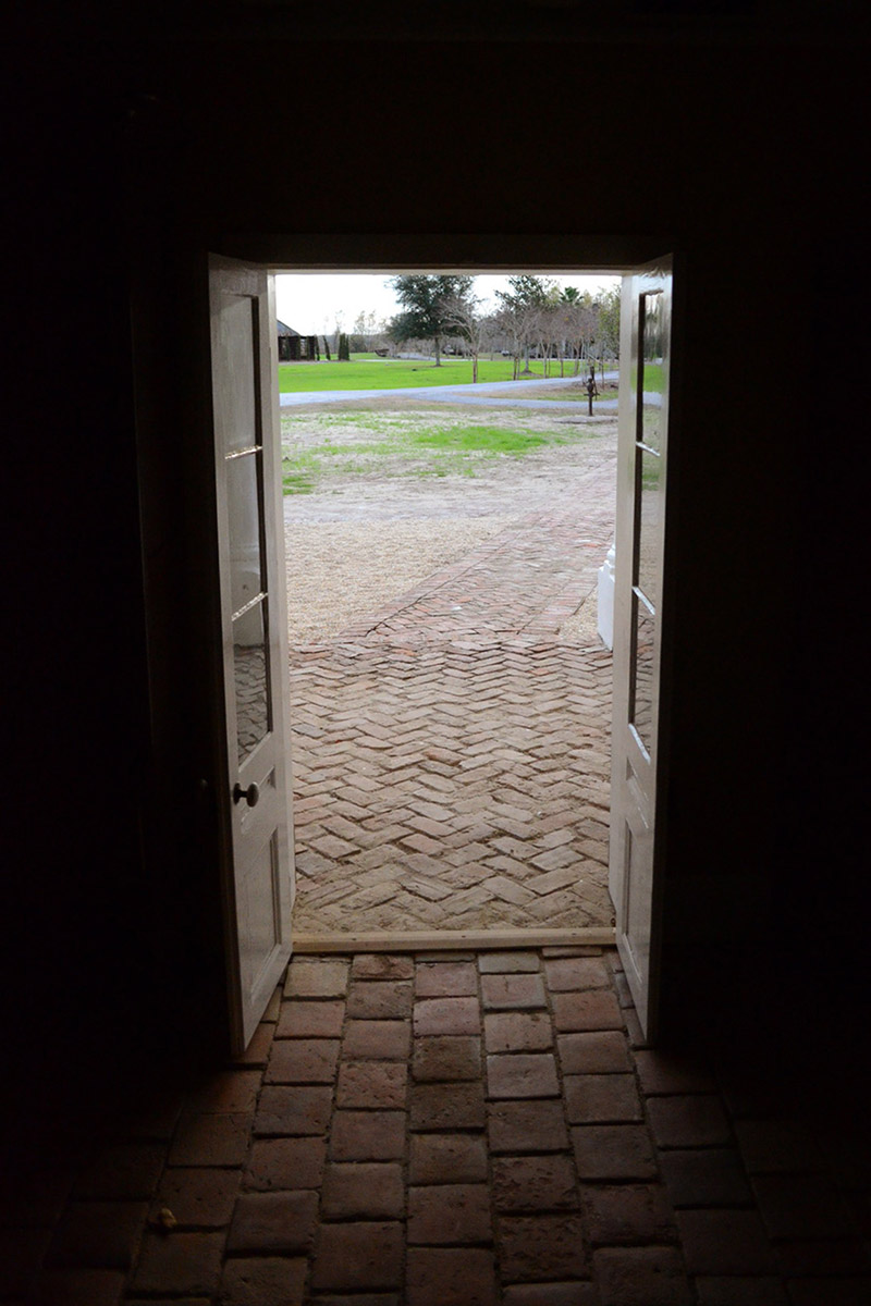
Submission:
<svg viewBox="0 0 871 1306">
<path fill-rule="evenodd" d="M 565 375 L 571 376 L 572 364 Z M 533 360 L 530 376 L 545 380 L 545 364 Z M 478 363 L 479 381 L 509 381 L 512 360 L 498 358 Z M 559 375 L 559 364 L 551 363 L 551 375 Z M 410 385 L 470 385 L 471 363 L 464 358 L 443 359 L 436 367 L 426 359 L 387 359 L 372 354 L 353 354 L 350 363 L 279 363 L 278 389 L 282 394 L 309 390 L 398 390 Z"/>
</svg>

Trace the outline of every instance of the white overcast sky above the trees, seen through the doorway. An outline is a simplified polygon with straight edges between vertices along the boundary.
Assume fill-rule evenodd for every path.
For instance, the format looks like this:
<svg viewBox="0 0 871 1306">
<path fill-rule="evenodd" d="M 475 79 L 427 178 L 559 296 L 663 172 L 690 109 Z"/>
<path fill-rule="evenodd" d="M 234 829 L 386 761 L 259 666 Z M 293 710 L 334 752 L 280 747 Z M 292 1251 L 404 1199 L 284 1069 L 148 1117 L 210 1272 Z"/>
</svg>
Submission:
<svg viewBox="0 0 871 1306">
<path fill-rule="evenodd" d="M 279 274 L 276 277 L 276 299 L 278 320 L 293 326 L 300 336 L 321 336 L 337 325 L 353 330 L 360 312 L 375 312 L 381 319 L 393 317 L 398 304 L 393 291 L 387 285 L 390 273 L 302 273 Z M 542 273 L 547 277 L 551 273 Z M 606 276 L 554 276 L 560 286 L 577 286 L 580 290 L 595 291 L 618 285 L 619 277 Z M 484 300 L 484 307 L 495 308 L 494 293 L 504 290 L 508 277 L 475 277 L 475 294 Z"/>
</svg>

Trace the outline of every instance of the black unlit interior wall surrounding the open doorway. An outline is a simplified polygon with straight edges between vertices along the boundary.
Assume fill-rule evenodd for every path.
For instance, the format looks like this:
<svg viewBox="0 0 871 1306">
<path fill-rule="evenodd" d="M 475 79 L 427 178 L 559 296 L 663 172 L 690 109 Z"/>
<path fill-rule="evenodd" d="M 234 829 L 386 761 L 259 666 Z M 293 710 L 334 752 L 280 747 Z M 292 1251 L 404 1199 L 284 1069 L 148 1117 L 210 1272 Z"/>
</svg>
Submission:
<svg viewBox="0 0 871 1306">
<path fill-rule="evenodd" d="M 264 231 L 371 235 L 385 256 L 396 231 L 640 234 L 676 253 L 669 1021 L 680 1030 L 689 991 L 734 998 L 736 976 L 780 973 L 770 1000 L 787 1010 L 806 973 L 797 940 L 820 913 L 827 973 L 831 959 L 849 965 L 858 913 L 834 904 L 858 902 L 857 865 L 832 820 L 849 806 L 849 577 L 825 590 L 836 649 L 828 613 L 807 609 L 823 606 L 829 551 L 855 529 L 857 444 L 845 409 L 812 417 L 808 392 L 821 354 L 858 362 L 861 170 L 842 127 L 861 52 L 285 37 L 30 57 L 18 541 L 38 560 L 39 602 L 22 576 L 16 697 L 39 782 L 13 840 L 20 1032 L 60 999 L 76 1036 L 101 1012 L 124 1012 L 129 1029 L 133 1012 L 163 1037 L 172 1013 L 184 1027 L 196 977 L 218 974 L 195 797 L 208 656 L 184 620 L 208 577 L 182 539 L 198 511 L 202 259 Z M 309 129 L 289 125 L 289 102 L 311 107 Z M 33 347 L 46 302 L 72 326 L 50 385 Z M 46 454 L 57 432 L 76 451 L 63 474 Z"/>
</svg>

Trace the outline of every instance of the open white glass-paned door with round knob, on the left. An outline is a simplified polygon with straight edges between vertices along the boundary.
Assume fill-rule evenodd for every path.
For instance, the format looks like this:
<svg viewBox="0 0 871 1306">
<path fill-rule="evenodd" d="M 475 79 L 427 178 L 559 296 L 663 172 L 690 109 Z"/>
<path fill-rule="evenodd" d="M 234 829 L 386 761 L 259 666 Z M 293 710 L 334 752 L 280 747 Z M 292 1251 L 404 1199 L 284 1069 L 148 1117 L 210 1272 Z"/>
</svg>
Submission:
<svg viewBox="0 0 871 1306">
<path fill-rule="evenodd" d="M 232 1050 L 290 956 L 294 897 L 287 614 L 273 278 L 209 265 L 229 855 L 223 906 Z"/>
</svg>

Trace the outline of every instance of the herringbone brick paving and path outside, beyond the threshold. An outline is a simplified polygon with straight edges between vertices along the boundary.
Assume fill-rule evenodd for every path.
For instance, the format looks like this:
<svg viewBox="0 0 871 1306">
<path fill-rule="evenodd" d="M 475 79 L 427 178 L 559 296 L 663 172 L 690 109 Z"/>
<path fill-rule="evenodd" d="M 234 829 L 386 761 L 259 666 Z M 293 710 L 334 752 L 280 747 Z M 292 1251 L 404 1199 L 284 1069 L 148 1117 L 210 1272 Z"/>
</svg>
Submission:
<svg viewBox="0 0 871 1306">
<path fill-rule="evenodd" d="M 293 652 L 299 931 L 611 925 L 611 657 L 558 636 L 594 602 L 612 481 Z"/>
</svg>

